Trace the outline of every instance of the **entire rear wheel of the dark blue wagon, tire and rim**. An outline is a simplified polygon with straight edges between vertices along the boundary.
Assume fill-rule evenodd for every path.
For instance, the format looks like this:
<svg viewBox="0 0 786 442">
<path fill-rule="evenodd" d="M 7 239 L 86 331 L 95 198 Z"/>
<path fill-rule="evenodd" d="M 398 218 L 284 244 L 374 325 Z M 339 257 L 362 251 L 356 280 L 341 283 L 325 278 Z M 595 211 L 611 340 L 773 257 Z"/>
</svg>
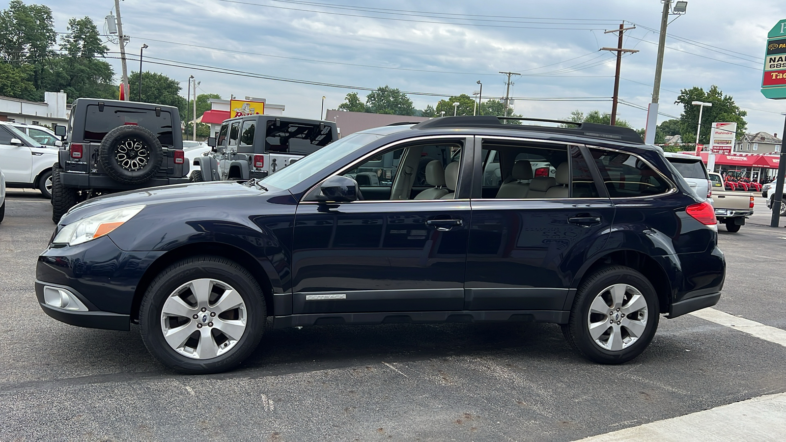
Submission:
<svg viewBox="0 0 786 442">
<path fill-rule="evenodd" d="M 567 341 L 587 359 L 626 363 L 647 348 L 658 328 L 659 302 L 645 276 L 630 267 L 605 267 L 578 287 Z"/>
</svg>

